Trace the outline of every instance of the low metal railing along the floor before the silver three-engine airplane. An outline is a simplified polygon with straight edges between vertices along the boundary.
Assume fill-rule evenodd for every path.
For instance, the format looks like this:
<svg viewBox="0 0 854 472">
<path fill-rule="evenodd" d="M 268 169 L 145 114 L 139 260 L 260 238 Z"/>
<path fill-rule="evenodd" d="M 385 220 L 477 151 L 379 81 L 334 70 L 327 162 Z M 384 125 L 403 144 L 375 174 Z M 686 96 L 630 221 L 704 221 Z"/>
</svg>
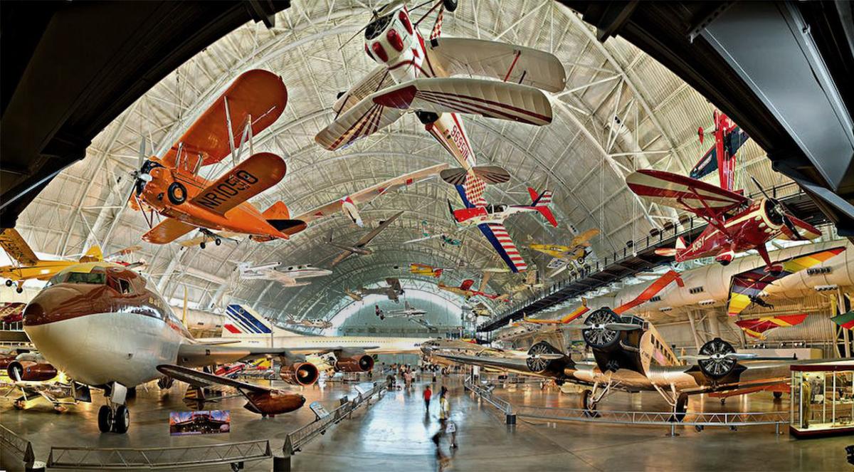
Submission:
<svg viewBox="0 0 854 472">
<path fill-rule="evenodd" d="M 645 426 L 666 426 L 670 434 L 675 434 L 676 426 L 694 426 L 698 430 L 706 427 L 738 428 L 740 426 L 773 425 L 777 434 L 780 427 L 788 424 L 788 411 L 751 411 L 744 413 L 725 412 L 686 412 L 681 421 L 676 421 L 673 411 L 613 411 L 589 410 L 574 408 L 557 408 L 547 406 L 515 405 L 493 394 L 488 388 L 477 386 L 471 381 L 465 382 L 465 388 L 474 392 L 478 397 L 493 404 L 507 416 L 518 416 L 553 421 L 571 422 L 601 422 L 612 424 L 629 424 Z"/>
</svg>

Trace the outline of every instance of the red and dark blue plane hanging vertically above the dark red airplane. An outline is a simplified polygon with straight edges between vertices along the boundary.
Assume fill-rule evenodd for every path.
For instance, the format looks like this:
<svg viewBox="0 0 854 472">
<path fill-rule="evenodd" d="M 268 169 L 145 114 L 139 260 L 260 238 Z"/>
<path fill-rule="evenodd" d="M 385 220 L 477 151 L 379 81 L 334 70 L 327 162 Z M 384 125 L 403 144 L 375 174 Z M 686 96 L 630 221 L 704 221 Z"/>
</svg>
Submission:
<svg viewBox="0 0 854 472">
<path fill-rule="evenodd" d="M 723 190 L 735 190 L 735 153 L 741 145 L 744 145 L 748 136 L 740 127 L 722 114 L 717 109 L 712 114 L 715 121 L 715 130 L 711 132 L 715 144 L 700 157 L 696 165 L 691 169 L 689 176 L 692 179 L 702 179 L 717 169 L 717 177 Z M 700 144 L 705 137 L 703 128 L 697 130 Z"/>
</svg>

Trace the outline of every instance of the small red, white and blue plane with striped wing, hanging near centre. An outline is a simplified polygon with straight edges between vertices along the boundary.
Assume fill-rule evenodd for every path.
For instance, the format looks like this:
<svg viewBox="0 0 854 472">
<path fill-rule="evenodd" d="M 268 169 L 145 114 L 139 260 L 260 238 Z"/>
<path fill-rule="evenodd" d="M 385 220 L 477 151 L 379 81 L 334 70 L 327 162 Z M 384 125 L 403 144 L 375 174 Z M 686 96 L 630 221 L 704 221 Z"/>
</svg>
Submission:
<svg viewBox="0 0 854 472">
<path fill-rule="evenodd" d="M 513 244 L 510 234 L 507 233 L 504 220 L 519 213 L 537 212 L 546 218 L 553 227 L 558 226 L 558 221 L 554 219 L 552 210 L 548 208 L 548 204 L 552 202 L 552 192 L 550 191 L 538 194 L 533 188 L 528 187 L 531 198 L 529 205 L 472 204 L 471 200 L 468 199 L 472 195 L 471 192 L 463 186 L 460 186 L 459 192 L 465 208 L 453 209 L 451 203 L 448 202 L 448 210 L 451 212 L 453 220 L 459 225 L 477 226 L 512 272 L 523 272 L 528 268 L 528 265 L 525 264 L 524 259 L 516 249 L 516 245 Z M 482 194 L 483 189 L 475 191 L 475 194 L 477 193 Z"/>
</svg>

